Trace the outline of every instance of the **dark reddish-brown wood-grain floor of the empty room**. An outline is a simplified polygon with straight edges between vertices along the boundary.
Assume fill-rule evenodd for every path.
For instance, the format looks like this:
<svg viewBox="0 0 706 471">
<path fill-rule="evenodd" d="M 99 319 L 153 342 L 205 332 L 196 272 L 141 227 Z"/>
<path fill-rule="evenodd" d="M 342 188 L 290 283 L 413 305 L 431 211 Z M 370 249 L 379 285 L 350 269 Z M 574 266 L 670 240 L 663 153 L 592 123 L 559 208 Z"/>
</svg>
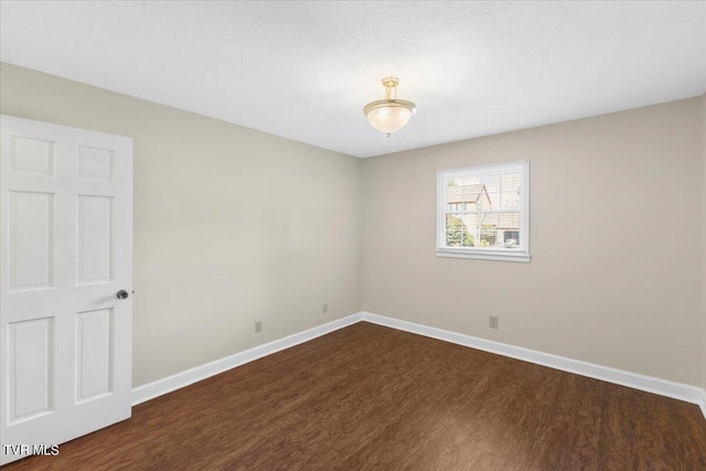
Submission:
<svg viewBox="0 0 706 471">
<path fill-rule="evenodd" d="M 359 323 L 19 470 L 706 470 L 697 406 Z"/>
</svg>

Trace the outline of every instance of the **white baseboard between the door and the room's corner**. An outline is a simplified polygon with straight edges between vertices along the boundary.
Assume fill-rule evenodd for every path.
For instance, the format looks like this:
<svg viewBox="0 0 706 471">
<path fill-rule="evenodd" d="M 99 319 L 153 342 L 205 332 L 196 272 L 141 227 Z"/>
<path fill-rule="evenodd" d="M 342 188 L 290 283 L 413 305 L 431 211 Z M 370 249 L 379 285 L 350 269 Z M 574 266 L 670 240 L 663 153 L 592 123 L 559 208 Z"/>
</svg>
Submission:
<svg viewBox="0 0 706 471">
<path fill-rule="evenodd" d="M 299 332 L 284 339 L 279 339 L 264 345 L 255 346 L 245 352 L 239 352 L 225 358 L 216 360 L 201 366 L 186 370 L 181 373 L 158 379 L 156 382 L 138 386 L 132 389 L 132 405 L 145 403 L 163 394 L 171 393 L 190 384 L 194 384 L 207 377 L 232 370 L 236 366 L 244 365 L 263 356 L 271 355 L 280 350 L 308 342 L 327 333 L 343 329 L 344 327 L 360 322 L 361 313 L 351 314 L 342 319 L 318 325 L 315 328 Z"/>
</svg>

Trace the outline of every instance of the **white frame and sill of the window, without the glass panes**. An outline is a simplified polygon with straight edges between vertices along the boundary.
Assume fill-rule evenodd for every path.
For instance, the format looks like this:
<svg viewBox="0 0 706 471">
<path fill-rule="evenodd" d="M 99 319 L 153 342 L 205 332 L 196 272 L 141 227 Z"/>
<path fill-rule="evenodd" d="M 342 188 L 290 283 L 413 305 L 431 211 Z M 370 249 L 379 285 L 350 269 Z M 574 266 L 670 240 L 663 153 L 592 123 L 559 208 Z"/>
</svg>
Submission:
<svg viewBox="0 0 706 471">
<path fill-rule="evenodd" d="M 520 183 L 520 247 L 447 247 L 446 215 L 449 180 L 463 175 L 484 175 L 501 172 L 521 172 Z M 439 170 L 437 172 L 437 257 L 474 258 L 479 260 L 524 261 L 530 263 L 530 161 L 494 163 L 489 165 L 466 167 L 462 169 Z"/>
</svg>

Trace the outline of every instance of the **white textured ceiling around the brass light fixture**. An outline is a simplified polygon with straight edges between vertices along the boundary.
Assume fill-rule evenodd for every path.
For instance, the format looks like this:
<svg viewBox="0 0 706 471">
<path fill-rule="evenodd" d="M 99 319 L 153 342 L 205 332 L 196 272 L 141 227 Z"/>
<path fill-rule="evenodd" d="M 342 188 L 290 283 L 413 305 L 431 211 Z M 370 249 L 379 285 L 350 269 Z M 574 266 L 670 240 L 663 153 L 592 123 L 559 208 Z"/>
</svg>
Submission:
<svg viewBox="0 0 706 471">
<path fill-rule="evenodd" d="M 0 3 L 0 60 L 370 157 L 693 97 L 706 2 Z M 386 138 L 381 79 L 417 115 Z"/>
</svg>

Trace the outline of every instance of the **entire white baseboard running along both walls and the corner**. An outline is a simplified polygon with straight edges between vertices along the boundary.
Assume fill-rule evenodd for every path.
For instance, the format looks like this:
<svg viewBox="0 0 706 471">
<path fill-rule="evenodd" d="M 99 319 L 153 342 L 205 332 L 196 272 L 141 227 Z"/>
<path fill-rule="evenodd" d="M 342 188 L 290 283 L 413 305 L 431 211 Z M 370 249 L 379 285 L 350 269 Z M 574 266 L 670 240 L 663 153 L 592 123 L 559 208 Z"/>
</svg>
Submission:
<svg viewBox="0 0 706 471">
<path fill-rule="evenodd" d="M 281 350 L 289 349 L 303 342 L 308 342 L 327 333 L 334 332 L 339 329 L 352 325 L 357 322 L 371 322 L 405 332 L 425 335 L 431 339 L 442 340 L 445 342 L 456 343 L 458 345 L 471 349 L 482 350 L 498 355 L 509 356 L 511 358 L 522 360 L 530 363 L 560 370 L 568 373 L 588 376 L 607 383 L 619 384 L 621 386 L 644 390 L 648 393 L 659 394 L 661 396 L 672 397 L 674 399 L 684 400 L 686 403 L 696 404 L 700 407 L 704 418 L 706 419 L 706 390 L 700 387 L 692 386 L 683 383 L 675 383 L 667 379 L 661 379 L 653 376 L 645 376 L 638 373 L 631 373 L 623 370 L 601 366 L 593 363 L 571 360 L 564 356 L 553 355 L 550 353 L 538 352 L 536 350 L 523 349 L 506 343 L 494 342 L 491 340 L 480 339 L 458 332 L 451 332 L 442 329 L 436 329 L 428 325 L 417 324 L 414 322 L 402 321 L 394 318 L 373 314 L 371 312 L 359 312 L 335 321 L 308 329 L 306 331 L 276 340 L 274 342 L 258 345 L 244 352 L 236 353 L 225 358 L 216 360 L 172 376 L 168 376 L 156 382 L 138 386 L 132 389 L 132 405 L 145 403 L 172 390 L 189 386 L 190 384 L 205 379 L 207 377 L 226 372 L 234 367 L 249 363 L 263 356 L 271 355 Z"/>
</svg>

